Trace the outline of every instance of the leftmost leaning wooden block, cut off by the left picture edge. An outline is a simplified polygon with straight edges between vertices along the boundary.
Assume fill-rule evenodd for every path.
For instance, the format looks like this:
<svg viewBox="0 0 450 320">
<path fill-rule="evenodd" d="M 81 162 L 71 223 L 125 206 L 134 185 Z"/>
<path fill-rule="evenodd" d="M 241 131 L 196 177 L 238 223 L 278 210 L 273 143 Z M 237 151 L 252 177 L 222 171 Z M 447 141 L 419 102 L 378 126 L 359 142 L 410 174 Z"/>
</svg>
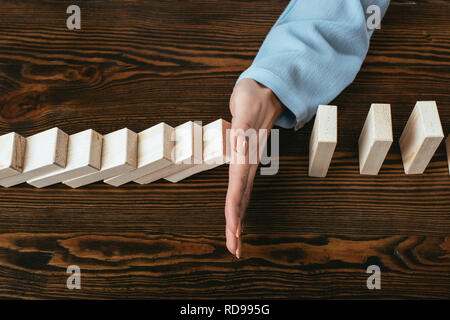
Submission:
<svg viewBox="0 0 450 320">
<path fill-rule="evenodd" d="M 26 139 L 11 132 L 0 136 L 0 179 L 22 173 Z"/>
</svg>

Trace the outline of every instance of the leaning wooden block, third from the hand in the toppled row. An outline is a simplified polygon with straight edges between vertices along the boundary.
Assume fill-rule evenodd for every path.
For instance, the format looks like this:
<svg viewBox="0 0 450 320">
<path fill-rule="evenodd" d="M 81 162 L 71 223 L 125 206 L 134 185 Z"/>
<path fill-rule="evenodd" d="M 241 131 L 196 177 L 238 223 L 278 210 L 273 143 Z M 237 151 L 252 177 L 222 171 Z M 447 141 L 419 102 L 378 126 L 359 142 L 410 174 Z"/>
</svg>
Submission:
<svg viewBox="0 0 450 320">
<path fill-rule="evenodd" d="M 120 186 L 170 166 L 175 146 L 174 128 L 164 122 L 138 134 L 138 167 L 136 170 L 106 179 L 104 182 Z"/>
</svg>

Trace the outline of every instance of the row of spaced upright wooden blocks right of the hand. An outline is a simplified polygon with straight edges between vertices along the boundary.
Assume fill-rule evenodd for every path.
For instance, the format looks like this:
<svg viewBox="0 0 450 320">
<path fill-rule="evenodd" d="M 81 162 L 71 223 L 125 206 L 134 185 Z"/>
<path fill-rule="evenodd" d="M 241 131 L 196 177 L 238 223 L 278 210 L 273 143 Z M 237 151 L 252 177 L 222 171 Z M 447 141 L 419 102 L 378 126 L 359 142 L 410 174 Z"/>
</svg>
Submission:
<svg viewBox="0 0 450 320">
<path fill-rule="evenodd" d="M 444 139 L 435 101 L 418 101 L 400 136 L 406 174 L 421 174 Z M 358 140 L 361 174 L 377 175 L 393 142 L 390 104 L 372 104 Z M 309 175 L 325 177 L 337 144 L 337 107 L 319 106 L 309 144 Z M 450 170 L 450 136 L 446 140 Z"/>
</svg>

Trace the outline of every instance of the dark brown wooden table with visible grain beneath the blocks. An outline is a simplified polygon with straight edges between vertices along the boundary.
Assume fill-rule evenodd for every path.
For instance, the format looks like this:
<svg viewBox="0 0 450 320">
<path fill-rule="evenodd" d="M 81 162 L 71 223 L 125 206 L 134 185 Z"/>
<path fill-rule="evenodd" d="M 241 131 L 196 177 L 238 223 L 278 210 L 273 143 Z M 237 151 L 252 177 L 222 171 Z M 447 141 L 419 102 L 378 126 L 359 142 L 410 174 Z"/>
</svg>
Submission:
<svg viewBox="0 0 450 320">
<path fill-rule="evenodd" d="M 234 82 L 287 1 L 0 1 L 0 133 L 58 126 L 136 132 L 230 120 Z M 280 171 L 256 177 L 244 257 L 224 238 L 227 167 L 179 184 L 0 189 L 1 298 L 450 298 L 445 148 L 406 176 L 398 138 L 417 100 L 450 128 L 450 2 L 393 0 L 366 62 L 337 99 L 325 179 L 307 176 L 309 123 L 281 131 Z M 330 79 L 333 81 L 333 79 Z M 369 106 L 392 104 L 395 142 L 359 175 Z M 368 290 L 366 268 L 381 268 Z M 82 270 L 81 290 L 66 268 Z"/>
</svg>

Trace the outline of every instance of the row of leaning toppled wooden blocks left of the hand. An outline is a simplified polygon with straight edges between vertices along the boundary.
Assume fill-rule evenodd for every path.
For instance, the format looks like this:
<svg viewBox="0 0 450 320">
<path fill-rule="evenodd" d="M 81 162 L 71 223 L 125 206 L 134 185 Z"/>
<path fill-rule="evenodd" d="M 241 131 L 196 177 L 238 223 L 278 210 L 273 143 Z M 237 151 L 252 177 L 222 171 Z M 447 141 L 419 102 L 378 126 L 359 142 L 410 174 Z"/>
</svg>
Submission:
<svg viewBox="0 0 450 320">
<path fill-rule="evenodd" d="M 0 185 L 27 182 L 42 188 L 78 188 L 103 180 L 113 186 L 164 178 L 178 182 L 229 162 L 229 122 L 192 121 L 173 128 L 159 123 L 140 133 L 127 128 L 102 136 L 89 129 L 68 136 L 58 128 L 24 138 L 0 136 Z"/>
</svg>

